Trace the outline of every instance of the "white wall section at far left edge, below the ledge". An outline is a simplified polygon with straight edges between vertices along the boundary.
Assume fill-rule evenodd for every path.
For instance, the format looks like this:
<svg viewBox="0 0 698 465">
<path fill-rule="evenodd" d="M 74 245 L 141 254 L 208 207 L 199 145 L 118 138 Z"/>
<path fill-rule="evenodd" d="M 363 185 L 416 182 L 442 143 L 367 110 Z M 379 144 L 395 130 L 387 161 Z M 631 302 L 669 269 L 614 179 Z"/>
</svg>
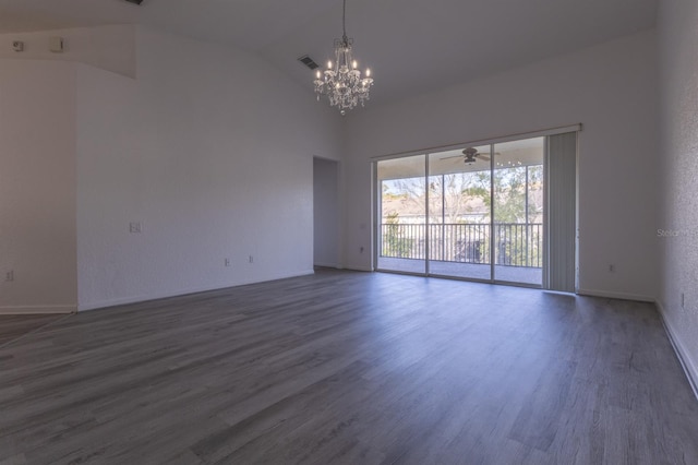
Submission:
<svg viewBox="0 0 698 465">
<path fill-rule="evenodd" d="M 74 311 L 75 266 L 74 67 L 0 60 L 0 312 Z"/>
</svg>

